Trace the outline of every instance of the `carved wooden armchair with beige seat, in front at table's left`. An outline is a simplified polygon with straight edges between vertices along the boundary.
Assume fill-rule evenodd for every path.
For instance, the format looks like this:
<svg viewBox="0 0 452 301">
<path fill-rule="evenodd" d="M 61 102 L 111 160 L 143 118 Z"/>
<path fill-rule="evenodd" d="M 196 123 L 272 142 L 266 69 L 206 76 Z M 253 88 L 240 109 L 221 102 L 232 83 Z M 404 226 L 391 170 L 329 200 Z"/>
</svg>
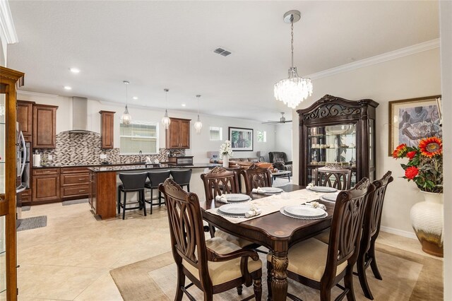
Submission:
<svg viewBox="0 0 452 301">
<path fill-rule="evenodd" d="M 193 284 L 203 291 L 204 300 L 213 300 L 214 294 L 251 283 L 254 296 L 245 300 L 261 300 L 262 262 L 258 254 L 221 237 L 206 240 L 198 196 L 184 191 L 172 179 L 166 179 L 158 189 L 165 196 L 172 254 L 177 264 L 174 300 L 182 300 L 184 293 L 195 300 L 187 291 Z M 185 278 L 191 281 L 189 285 L 185 285 Z"/>
</svg>

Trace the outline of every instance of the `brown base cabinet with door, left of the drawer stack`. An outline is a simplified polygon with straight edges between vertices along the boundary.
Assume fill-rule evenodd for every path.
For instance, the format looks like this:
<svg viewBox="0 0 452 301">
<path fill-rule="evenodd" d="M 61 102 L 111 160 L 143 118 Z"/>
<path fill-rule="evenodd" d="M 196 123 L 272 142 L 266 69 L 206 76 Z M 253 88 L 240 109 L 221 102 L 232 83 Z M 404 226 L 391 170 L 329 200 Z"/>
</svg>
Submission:
<svg viewBox="0 0 452 301">
<path fill-rule="evenodd" d="M 59 168 L 34 169 L 32 173 L 32 202 L 54 203 L 60 201 Z"/>
</svg>

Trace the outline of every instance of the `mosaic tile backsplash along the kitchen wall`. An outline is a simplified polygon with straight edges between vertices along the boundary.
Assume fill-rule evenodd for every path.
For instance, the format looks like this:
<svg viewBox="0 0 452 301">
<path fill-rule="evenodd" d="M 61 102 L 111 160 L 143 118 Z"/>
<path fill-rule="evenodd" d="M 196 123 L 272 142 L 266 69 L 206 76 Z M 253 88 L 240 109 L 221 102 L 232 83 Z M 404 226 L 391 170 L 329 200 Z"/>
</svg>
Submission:
<svg viewBox="0 0 452 301">
<path fill-rule="evenodd" d="M 61 132 L 57 134 L 56 140 L 57 146 L 54 149 L 37 149 L 44 161 L 48 155 L 52 155 L 49 165 L 100 165 L 104 161 L 111 164 L 126 164 L 145 161 L 146 157 L 150 157 L 153 162 L 155 159 L 165 162 L 170 151 L 167 148 L 159 148 L 157 155 L 120 155 L 119 148 L 100 148 L 100 134 L 94 132 L 85 134 Z M 177 151 L 180 151 L 180 155 L 185 155 L 185 150 Z M 101 159 L 102 154 L 107 155 L 107 159 Z"/>
</svg>

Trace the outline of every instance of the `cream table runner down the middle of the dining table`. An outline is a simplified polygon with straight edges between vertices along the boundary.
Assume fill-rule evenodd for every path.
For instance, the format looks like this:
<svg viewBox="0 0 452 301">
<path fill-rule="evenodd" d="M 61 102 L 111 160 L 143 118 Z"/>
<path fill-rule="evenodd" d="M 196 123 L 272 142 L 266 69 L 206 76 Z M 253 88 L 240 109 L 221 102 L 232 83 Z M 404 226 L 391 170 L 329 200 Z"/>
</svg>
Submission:
<svg viewBox="0 0 452 301">
<path fill-rule="evenodd" d="M 291 192 L 283 192 L 281 194 L 273 194 L 261 199 L 255 199 L 252 201 L 247 201 L 251 208 L 259 208 L 261 209 L 261 214 L 258 216 L 252 216 L 251 218 L 233 218 L 230 216 L 223 216 L 222 214 L 218 214 L 218 208 L 209 209 L 208 213 L 213 213 L 226 220 L 229 220 L 231 223 L 237 224 L 242 223 L 245 220 L 252 220 L 253 218 L 258 218 L 261 216 L 266 216 L 267 214 L 280 211 L 280 208 L 284 206 L 291 205 L 301 205 L 302 203 L 306 203 L 309 201 L 314 201 L 319 199 L 319 197 L 325 193 L 310 191 L 307 189 L 301 189 Z"/>
</svg>

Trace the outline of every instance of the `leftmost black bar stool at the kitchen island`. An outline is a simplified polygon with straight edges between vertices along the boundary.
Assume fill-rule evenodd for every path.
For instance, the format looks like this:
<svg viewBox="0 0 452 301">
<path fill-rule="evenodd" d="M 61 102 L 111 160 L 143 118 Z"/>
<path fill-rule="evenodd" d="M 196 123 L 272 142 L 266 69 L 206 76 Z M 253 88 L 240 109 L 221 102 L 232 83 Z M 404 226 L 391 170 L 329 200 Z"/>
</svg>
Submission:
<svg viewBox="0 0 452 301">
<path fill-rule="evenodd" d="M 147 172 L 141 173 L 120 173 L 119 179 L 121 179 L 122 184 L 118 187 L 118 214 L 121 213 L 122 207 L 122 219 L 126 218 L 126 210 L 131 209 L 142 209 L 144 211 L 144 216 L 146 216 L 146 206 L 144 198 L 144 188 L 146 178 L 148 177 Z M 121 203 L 121 191 L 124 192 L 124 201 Z M 136 207 L 126 207 L 127 192 L 138 192 L 138 204 Z"/>
</svg>

